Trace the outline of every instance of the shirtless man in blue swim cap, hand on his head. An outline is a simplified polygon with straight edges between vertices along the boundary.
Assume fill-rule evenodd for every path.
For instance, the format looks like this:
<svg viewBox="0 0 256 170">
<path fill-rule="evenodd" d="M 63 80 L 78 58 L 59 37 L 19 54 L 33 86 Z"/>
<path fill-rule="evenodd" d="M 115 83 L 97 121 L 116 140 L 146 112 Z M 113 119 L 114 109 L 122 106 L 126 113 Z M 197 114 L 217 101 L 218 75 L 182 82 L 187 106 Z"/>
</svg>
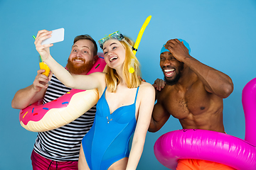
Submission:
<svg viewBox="0 0 256 170">
<path fill-rule="evenodd" d="M 228 75 L 199 62 L 189 53 L 188 43 L 181 39 L 169 40 L 162 47 L 160 67 L 164 81 L 156 79 L 153 84 L 157 103 L 149 132 L 160 130 L 170 115 L 178 118 L 183 129 L 225 132 L 223 98 L 232 93 L 233 82 Z M 181 159 L 177 169 L 194 169 L 194 164 L 204 163 L 217 166 L 215 162 Z M 220 166 L 223 169 L 224 165 Z"/>
</svg>

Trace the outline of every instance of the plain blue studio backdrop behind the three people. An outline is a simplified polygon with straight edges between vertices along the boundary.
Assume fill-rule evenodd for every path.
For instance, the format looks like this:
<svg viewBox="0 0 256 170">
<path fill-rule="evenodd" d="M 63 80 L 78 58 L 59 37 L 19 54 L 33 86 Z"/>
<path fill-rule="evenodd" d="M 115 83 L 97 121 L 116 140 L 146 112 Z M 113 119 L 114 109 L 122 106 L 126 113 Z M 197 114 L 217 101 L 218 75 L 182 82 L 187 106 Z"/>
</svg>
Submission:
<svg viewBox="0 0 256 170">
<path fill-rule="evenodd" d="M 186 40 L 193 57 L 233 79 L 233 94 L 224 99 L 225 131 L 244 139 L 241 94 L 256 76 L 255 0 L 0 0 L 1 170 L 32 169 L 30 156 L 37 133 L 22 128 L 19 111 L 11 108 L 16 91 L 31 85 L 39 69 L 32 35 L 42 29 L 65 28 L 65 40 L 50 49 L 55 60 L 65 66 L 76 35 L 87 33 L 100 40 L 120 30 L 136 40 L 149 15 L 152 18 L 137 52 L 143 78 L 151 84 L 163 78 L 159 67 L 162 45 L 171 38 Z M 178 129 L 181 125 L 171 117 L 159 132 L 148 132 L 137 169 L 167 169 L 154 156 L 154 142 L 165 132 Z"/>
</svg>

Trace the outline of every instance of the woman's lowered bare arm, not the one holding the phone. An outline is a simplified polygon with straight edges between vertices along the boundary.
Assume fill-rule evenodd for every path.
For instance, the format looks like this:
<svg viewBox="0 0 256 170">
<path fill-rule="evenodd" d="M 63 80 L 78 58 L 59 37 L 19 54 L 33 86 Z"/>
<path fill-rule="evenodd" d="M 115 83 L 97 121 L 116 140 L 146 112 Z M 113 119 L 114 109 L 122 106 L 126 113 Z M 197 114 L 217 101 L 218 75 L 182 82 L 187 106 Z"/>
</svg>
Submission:
<svg viewBox="0 0 256 170">
<path fill-rule="evenodd" d="M 127 163 L 128 169 L 136 169 L 142 156 L 146 132 L 149 128 L 151 113 L 154 107 L 155 91 L 151 84 L 142 82 L 139 87 L 140 105 L 137 126 L 132 140 L 132 148 Z"/>
</svg>

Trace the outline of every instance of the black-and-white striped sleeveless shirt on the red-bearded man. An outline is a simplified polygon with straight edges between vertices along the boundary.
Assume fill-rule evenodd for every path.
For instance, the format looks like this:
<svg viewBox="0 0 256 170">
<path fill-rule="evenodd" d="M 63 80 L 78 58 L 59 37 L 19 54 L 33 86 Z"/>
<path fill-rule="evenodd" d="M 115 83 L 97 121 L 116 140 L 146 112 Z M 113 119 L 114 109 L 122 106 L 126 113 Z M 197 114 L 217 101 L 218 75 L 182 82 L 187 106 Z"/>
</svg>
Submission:
<svg viewBox="0 0 256 170">
<path fill-rule="evenodd" d="M 43 103 L 63 96 L 70 88 L 62 84 L 54 75 L 50 79 Z M 82 137 L 90 130 L 95 118 L 96 106 L 68 125 L 55 130 L 38 132 L 33 149 L 47 159 L 54 161 L 78 161 Z"/>
</svg>

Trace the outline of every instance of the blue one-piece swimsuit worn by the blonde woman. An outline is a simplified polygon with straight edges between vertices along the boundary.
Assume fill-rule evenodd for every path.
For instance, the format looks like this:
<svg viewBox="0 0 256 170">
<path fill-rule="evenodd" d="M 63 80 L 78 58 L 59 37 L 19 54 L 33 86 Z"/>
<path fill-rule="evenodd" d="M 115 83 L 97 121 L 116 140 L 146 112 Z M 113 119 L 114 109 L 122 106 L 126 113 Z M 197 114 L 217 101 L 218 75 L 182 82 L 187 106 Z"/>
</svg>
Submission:
<svg viewBox="0 0 256 170">
<path fill-rule="evenodd" d="M 92 128 L 82 139 L 85 159 L 91 170 L 108 169 L 114 162 L 129 157 L 129 138 L 137 124 L 135 103 L 139 87 L 134 103 L 117 108 L 112 114 L 105 91 L 97 102 Z"/>
</svg>

